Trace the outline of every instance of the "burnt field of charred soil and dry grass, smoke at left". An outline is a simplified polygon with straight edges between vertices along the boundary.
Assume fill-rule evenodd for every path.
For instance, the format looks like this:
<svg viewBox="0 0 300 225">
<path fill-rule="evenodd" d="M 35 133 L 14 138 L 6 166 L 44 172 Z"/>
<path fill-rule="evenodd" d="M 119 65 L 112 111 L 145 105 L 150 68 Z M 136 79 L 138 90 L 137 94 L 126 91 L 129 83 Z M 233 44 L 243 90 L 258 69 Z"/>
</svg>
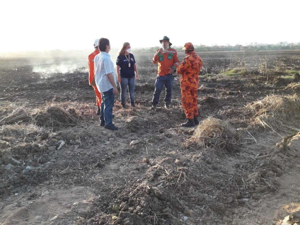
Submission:
<svg viewBox="0 0 300 225">
<path fill-rule="evenodd" d="M 138 54 L 114 132 L 86 57 L 0 61 L 0 224 L 300 224 L 300 52 L 199 55 L 198 127 L 180 127 L 178 77 L 150 110 L 157 65 Z"/>
</svg>

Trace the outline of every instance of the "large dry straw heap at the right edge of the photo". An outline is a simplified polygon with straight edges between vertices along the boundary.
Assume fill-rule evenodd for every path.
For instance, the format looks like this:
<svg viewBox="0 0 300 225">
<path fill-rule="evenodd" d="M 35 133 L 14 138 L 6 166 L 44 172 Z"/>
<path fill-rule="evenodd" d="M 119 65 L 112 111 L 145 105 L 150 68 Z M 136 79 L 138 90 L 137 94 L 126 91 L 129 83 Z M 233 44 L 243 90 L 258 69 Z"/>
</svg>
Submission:
<svg viewBox="0 0 300 225">
<path fill-rule="evenodd" d="M 298 95 L 270 95 L 262 100 L 247 104 L 246 108 L 253 111 L 254 121 L 264 128 L 276 130 L 296 130 L 300 119 L 300 98 Z M 287 123 L 288 122 L 288 123 Z"/>
</svg>

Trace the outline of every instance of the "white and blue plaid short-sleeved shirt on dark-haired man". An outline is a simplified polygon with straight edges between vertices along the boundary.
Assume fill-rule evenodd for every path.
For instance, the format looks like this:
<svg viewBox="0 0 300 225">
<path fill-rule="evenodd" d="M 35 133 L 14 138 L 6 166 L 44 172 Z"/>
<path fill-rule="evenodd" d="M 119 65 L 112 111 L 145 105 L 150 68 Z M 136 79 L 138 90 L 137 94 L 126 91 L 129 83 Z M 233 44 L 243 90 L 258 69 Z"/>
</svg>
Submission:
<svg viewBox="0 0 300 225">
<path fill-rule="evenodd" d="M 114 81 L 117 85 L 116 76 L 114 74 L 113 61 L 110 59 L 110 55 L 106 52 L 100 52 L 95 56 L 95 82 L 98 90 L 103 93 L 113 88 L 110 81 L 107 78 L 107 74 L 112 73 Z"/>
</svg>

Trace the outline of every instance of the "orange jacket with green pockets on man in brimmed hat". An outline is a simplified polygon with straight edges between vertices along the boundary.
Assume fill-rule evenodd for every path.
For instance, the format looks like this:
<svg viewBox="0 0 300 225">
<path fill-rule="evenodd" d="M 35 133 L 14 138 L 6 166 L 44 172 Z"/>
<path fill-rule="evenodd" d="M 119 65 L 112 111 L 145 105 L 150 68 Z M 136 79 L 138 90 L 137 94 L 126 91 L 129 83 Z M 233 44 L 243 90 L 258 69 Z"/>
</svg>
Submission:
<svg viewBox="0 0 300 225">
<path fill-rule="evenodd" d="M 158 76 L 166 76 L 169 74 L 170 68 L 176 69 L 179 65 L 179 58 L 175 49 L 167 49 L 167 52 L 158 54 L 158 50 L 155 56 L 152 58 L 154 64 L 158 63 Z"/>
</svg>

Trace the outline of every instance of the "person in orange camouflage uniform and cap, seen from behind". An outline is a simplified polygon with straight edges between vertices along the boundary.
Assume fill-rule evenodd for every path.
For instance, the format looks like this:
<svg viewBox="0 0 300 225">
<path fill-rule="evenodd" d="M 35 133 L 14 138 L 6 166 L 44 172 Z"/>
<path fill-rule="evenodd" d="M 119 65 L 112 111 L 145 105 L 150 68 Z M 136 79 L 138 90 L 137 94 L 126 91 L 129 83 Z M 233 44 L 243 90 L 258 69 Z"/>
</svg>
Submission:
<svg viewBox="0 0 300 225">
<path fill-rule="evenodd" d="M 177 73 L 181 75 L 181 102 L 185 116 L 187 117 L 187 122 L 182 123 L 181 126 L 193 127 L 199 124 L 197 119 L 197 116 L 199 115 L 197 98 L 202 59 L 196 54 L 194 46 L 190 42 L 184 44 L 183 50 L 186 56 L 177 68 Z"/>
</svg>

